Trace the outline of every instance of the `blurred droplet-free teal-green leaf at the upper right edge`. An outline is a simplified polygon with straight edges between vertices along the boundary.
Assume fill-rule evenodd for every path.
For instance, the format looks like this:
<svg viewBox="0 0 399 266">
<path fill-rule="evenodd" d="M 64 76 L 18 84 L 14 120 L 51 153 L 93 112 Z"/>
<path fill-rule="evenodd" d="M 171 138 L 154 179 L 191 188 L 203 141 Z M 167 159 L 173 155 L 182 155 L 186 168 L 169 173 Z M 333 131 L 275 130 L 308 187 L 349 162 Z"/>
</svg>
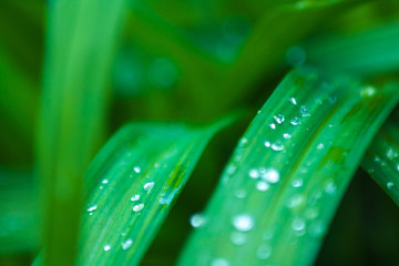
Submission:
<svg viewBox="0 0 399 266">
<path fill-rule="evenodd" d="M 305 44 L 308 63 L 329 71 L 389 74 L 399 71 L 399 22 Z"/>
</svg>

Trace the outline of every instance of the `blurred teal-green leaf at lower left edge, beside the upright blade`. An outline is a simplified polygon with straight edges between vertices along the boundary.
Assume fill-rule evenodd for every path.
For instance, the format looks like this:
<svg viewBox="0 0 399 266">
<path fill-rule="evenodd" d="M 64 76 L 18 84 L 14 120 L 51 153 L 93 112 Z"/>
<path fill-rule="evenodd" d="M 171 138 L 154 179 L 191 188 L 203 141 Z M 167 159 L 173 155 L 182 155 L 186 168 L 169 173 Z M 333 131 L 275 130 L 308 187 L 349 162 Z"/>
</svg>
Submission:
<svg viewBox="0 0 399 266">
<path fill-rule="evenodd" d="M 0 170 L 0 254 L 38 248 L 38 198 L 33 178 L 25 173 Z"/>
</svg>

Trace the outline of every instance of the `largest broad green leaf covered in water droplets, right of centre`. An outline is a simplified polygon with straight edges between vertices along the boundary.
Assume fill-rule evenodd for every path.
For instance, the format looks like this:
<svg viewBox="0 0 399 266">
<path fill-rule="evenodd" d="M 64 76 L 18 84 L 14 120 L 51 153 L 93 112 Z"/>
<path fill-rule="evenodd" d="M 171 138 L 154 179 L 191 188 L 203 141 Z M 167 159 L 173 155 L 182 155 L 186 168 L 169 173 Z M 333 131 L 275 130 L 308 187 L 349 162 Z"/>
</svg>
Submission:
<svg viewBox="0 0 399 266">
<path fill-rule="evenodd" d="M 180 265 L 311 265 L 398 98 L 395 86 L 288 74 L 239 141 Z"/>
</svg>

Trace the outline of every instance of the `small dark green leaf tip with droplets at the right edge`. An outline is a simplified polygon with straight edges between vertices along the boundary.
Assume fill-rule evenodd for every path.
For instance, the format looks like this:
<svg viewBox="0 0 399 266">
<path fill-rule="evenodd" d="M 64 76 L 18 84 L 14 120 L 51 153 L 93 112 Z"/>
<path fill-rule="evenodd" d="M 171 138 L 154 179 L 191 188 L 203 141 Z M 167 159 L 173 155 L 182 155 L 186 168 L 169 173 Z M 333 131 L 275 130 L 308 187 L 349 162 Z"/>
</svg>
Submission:
<svg viewBox="0 0 399 266">
<path fill-rule="evenodd" d="M 361 166 L 399 205 L 399 115 L 393 114 L 372 141 Z"/>
</svg>

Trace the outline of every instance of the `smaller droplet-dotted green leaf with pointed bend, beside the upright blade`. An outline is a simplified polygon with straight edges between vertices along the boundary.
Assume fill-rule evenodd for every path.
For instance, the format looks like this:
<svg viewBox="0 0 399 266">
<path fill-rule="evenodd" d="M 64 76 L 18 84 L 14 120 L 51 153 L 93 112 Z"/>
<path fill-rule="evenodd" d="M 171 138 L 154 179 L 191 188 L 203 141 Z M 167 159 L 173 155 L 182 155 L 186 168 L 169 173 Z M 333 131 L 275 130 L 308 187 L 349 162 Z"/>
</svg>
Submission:
<svg viewBox="0 0 399 266">
<path fill-rule="evenodd" d="M 206 143 L 232 117 L 204 129 L 134 123 L 92 162 L 80 265 L 137 265 Z"/>
</svg>

